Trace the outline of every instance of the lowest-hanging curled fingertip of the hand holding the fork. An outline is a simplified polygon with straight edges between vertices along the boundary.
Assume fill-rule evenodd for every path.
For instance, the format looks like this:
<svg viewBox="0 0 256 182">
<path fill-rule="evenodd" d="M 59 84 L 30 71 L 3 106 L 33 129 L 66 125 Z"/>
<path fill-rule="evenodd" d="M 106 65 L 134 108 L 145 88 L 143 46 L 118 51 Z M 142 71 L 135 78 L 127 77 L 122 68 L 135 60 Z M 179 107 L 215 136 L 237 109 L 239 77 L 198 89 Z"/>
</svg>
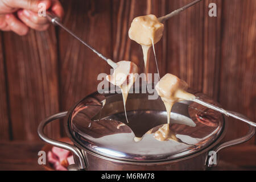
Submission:
<svg viewBox="0 0 256 182">
<path fill-rule="evenodd" d="M 20 20 L 18 20 L 13 14 L 5 15 L 5 21 L 9 26 L 9 30 L 14 31 L 18 35 L 27 34 L 28 27 L 26 24 L 20 22 Z"/>
</svg>

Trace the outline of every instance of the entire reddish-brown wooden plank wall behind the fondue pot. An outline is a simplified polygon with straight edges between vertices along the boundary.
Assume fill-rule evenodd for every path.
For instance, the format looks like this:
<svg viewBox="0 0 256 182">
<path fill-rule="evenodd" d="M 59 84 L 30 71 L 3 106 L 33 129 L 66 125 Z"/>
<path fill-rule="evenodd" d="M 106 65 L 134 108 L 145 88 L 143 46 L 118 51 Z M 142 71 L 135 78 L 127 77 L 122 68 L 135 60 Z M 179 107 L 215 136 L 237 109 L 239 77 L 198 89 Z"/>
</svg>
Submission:
<svg viewBox="0 0 256 182">
<path fill-rule="evenodd" d="M 191 0 L 63 0 L 64 24 L 113 60 L 133 60 L 143 72 L 141 47 L 127 32 L 138 15 L 169 13 Z M 217 18 L 208 5 L 217 3 Z M 225 109 L 256 121 L 256 1 L 205 0 L 168 20 L 156 45 L 160 75 L 173 73 Z M 58 27 L 0 36 L 0 140 L 39 140 L 39 122 L 97 90 L 110 67 Z M 156 72 L 151 52 L 150 72 Z M 226 140 L 247 127 L 230 119 Z M 47 128 L 64 135 L 61 123 Z M 246 144 L 255 144 L 255 138 Z"/>
</svg>

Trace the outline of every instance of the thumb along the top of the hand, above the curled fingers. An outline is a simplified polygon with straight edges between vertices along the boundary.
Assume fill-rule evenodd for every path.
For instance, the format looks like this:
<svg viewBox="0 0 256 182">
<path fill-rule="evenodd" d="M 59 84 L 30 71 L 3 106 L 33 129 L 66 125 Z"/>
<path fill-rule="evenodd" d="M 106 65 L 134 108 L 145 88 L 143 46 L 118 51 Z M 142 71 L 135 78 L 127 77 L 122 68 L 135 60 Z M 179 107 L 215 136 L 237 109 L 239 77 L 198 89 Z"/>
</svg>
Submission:
<svg viewBox="0 0 256 182">
<path fill-rule="evenodd" d="M 27 9 L 34 12 L 37 12 L 40 7 L 40 3 L 44 3 L 46 10 L 51 7 L 51 0 L 11 0 L 7 1 L 8 5 L 14 8 Z"/>
</svg>

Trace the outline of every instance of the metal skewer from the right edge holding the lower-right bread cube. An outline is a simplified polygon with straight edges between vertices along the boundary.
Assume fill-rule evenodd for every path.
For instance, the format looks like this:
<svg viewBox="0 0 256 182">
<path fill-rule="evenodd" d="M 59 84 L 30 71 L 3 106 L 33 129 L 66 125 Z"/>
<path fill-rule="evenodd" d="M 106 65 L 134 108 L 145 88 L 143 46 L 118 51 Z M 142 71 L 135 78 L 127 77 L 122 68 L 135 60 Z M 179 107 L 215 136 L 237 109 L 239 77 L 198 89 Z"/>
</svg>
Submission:
<svg viewBox="0 0 256 182">
<path fill-rule="evenodd" d="M 213 109 L 213 110 L 216 110 L 222 114 L 225 114 L 226 116 L 228 117 L 233 117 L 233 118 L 236 118 L 236 119 L 239 119 L 243 122 L 246 122 L 247 124 L 251 125 L 251 126 L 254 126 L 256 127 L 256 123 L 252 122 L 252 121 L 249 121 L 246 117 L 244 117 L 242 114 L 238 114 L 238 113 L 235 113 L 233 111 L 227 111 L 225 109 L 222 109 L 218 106 L 214 106 L 212 104 L 209 104 L 208 102 L 205 102 L 203 100 L 201 100 L 200 98 L 196 98 L 195 100 L 193 100 L 194 102 L 197 102 L 198 104 L 201 104 L 205 107 L 208 107 L 210 109 Z"/>
</svg>

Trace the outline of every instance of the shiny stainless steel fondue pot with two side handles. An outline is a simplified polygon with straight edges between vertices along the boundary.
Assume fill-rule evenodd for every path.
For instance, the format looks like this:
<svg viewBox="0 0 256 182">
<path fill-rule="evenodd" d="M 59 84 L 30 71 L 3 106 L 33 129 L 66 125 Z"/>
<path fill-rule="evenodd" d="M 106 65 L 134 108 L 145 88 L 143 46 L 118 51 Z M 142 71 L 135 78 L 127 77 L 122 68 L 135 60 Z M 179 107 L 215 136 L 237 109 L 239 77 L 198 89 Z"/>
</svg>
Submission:
<svg viewBox="0 0 256 182">
<path fill-rule="evenodd" d="M 218 106 L 204 94 L 192 93 Z M 255 133 L 255 128 L 249 126 L 244 137 L 221 143 L 228 129 L 227 117 L 195 102 L 183 101 L 175 104 L 171 112 L 169 127 L 174 138 L 156 140 L 154 131 L 167 123 L 167 114 L 162 100 L 148 100 L 148 95 L 129 94 L 127 123 L 122 94 L 95 92 L 71 110 L 42 121 L 39 137 L 73 152 L 76 164 L 69 166 L 70 170 L 205 170 L 217 164 L 222 148 L 246 142 Z M 44 134 L 44 127 L 60 118 L 64 118 L 65 131 L 73 145 Z M 147 133 L 152 128 L 154 131 Z M 143 138 L 135 142 L 135 137 Z"/>
</svg>

